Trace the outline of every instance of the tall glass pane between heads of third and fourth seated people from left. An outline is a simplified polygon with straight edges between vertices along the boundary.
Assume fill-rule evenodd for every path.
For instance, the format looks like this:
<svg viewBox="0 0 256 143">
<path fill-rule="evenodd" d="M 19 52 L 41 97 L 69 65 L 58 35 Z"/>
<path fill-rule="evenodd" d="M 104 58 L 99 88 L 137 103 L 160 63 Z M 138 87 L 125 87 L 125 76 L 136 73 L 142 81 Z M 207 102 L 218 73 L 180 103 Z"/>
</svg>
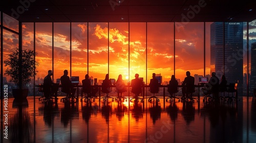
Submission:
<svg viewBox="0 0 256 143">
<path fill-rule="evenodd" d="M 89 23 L 88 38 L 89 76 L 97 78 L 101 85 L 108 74 L 108 23 Z"/>
</svg>

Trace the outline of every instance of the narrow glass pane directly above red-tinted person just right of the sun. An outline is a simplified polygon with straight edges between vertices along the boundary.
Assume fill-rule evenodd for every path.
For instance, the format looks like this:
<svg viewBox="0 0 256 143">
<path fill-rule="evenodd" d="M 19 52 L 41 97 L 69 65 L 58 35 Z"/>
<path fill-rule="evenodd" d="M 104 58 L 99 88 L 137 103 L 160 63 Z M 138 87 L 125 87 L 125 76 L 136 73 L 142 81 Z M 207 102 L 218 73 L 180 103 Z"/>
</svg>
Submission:
<svg viewBox="0 0 256 143">
<path fill-rule="evenodd" d="M 130 23 L 130 80 L 139 74 L 146 83 L 146 23 Z"/>
</svg>

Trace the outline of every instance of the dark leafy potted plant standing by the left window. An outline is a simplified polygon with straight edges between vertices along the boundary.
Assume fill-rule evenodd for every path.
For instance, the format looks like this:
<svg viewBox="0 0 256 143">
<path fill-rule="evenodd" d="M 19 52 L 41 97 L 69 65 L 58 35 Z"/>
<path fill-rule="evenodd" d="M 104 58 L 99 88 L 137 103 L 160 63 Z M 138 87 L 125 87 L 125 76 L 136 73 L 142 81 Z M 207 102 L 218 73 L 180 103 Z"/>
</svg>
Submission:
<svg viewBox="0 0 256 143">
<path fill-rule="evenodd" d="M 19 50 L 18 48 L 7 55 L 8 58 L 4 61 L 7 66 L 5 75 L 10 76 L 9 82 L 14 82 L 18 87 L 12 90 L 14 98 L 27 98 L 29 90 L 26 85 L 38 72 L 36 67 L 39 64 L 34 60 L 36 55 L 37 53 L 32 50 Z"/>
</svg>

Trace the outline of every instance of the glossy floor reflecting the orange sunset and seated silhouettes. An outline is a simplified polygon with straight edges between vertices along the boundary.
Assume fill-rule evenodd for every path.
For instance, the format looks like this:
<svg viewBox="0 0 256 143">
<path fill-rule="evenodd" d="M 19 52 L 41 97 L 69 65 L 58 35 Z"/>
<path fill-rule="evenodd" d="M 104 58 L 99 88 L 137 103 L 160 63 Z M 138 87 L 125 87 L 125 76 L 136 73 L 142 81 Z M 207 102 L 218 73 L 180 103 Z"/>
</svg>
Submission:
<svg viewBox="0 0 256 143">
<path fill-rule="evenodd" d="M 42 103 L 38 98 L 23 104 L 8 99 L 8 139 L 2 124 L 2 142 L 256 142 L 254 97 L 137 105 L 98 99 Z"/>
</svg>

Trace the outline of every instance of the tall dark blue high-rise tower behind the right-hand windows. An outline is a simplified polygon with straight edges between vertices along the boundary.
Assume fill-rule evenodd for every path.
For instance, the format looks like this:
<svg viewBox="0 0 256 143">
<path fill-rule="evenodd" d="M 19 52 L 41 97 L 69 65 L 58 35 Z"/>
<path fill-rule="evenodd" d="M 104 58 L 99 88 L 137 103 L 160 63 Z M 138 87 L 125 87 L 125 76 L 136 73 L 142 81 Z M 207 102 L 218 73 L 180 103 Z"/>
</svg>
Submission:
<svg viewBox="0 0 256 143">
<path fill-rule="evenodd" d="M 224 42 L 224 40 L 225 42 Z M 224 48 L 223 48 L 224 47 Z M 218 78 L 238 83 L 243 92 L 243 22 L 214 22 L 210 26 L 210 70 Z M 240 94 L 240 96 L 242 96 Z"/>
</svg>

